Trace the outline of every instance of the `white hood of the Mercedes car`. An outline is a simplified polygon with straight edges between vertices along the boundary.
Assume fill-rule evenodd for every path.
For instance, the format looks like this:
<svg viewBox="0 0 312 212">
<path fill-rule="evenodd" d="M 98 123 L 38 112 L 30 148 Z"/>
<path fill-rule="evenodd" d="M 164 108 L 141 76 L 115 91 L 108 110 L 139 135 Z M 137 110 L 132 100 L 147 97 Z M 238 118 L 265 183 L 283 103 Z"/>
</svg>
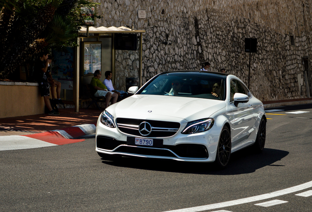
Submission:
<svg viewBox="0 0 312 212">
<path fill-rule="evenodd" d="M 220 100 L 175 96 L 133 95 L 107 107 L 114 117 L 171 120 L 170 117 L 193 121 L 209 118 L 226 103 Z"/>
</svg>

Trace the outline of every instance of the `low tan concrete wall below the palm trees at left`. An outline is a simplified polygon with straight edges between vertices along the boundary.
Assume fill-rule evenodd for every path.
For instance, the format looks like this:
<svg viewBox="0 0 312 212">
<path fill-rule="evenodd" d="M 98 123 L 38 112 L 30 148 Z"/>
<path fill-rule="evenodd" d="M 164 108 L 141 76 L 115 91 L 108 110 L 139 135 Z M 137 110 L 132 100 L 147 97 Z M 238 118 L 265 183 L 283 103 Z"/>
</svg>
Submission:
<svg viewBox="0 0 312 212">
<path fill-rule="evenodd" d="M 38 83 L 0 82 L 0 118 L 42 114 L 45 112 Z"/>
</svg>

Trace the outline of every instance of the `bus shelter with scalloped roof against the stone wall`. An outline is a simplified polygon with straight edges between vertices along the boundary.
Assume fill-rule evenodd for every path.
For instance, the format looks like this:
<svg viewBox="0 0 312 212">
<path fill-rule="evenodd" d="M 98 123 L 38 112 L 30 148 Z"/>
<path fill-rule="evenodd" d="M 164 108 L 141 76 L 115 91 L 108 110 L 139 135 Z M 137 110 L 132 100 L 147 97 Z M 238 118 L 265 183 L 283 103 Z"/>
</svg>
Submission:
<svg viewBox="0 0 312 212">
<path fill-rule="evenodd" d="M 116 50 L 139 51 L 138 85 L 142 83 L 142 34 L 127 27 L 81 27 L 76 48 L 74 105 L 79 111 L 80 83 L 90 83 L 95 70 L 111 70 L 116 84 Z"/>
</svg>

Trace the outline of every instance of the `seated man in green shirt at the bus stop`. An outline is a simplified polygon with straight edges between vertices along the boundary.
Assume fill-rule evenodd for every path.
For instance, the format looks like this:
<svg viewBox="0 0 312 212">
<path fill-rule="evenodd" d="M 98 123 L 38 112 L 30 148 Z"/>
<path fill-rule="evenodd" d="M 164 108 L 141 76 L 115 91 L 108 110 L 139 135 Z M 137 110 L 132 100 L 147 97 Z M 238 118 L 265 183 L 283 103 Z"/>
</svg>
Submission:
<svg viewBox="0 0 312 212">
<path fill-rule="evenodd" d="M 105 108 L 108 107 L 109 101 L 112 98 L 111 104 L 117 102 L 118 94 L 107 91 L 106 86 L 101 82 L 100 78 L 102 76 L 102 72 L 100 70 L 96 70 L 94 72 L 94 77 L 91 79 L 91 86 L 96 90 L 94 93 L 95 97 L 104 96 L 105 97 Z"/>
</svg>

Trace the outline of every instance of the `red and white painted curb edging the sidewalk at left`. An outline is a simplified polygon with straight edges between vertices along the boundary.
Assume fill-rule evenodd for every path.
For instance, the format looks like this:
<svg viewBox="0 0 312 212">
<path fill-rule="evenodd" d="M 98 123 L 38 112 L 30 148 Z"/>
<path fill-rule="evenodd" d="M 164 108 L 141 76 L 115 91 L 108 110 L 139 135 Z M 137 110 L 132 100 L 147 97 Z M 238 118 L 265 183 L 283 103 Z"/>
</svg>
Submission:
<svg viewBox="0 0 312 212">
<path fill-rule="evenodd" d="M 82 124 L 62 130 L 54 130 L 28 135 L 0 136 L 0 151 L 32 149 L 69 143 L 77 143 L 84 139 L 74 139 L 83 135 L 94 134 L 95 124 Z"/>
</svg>

